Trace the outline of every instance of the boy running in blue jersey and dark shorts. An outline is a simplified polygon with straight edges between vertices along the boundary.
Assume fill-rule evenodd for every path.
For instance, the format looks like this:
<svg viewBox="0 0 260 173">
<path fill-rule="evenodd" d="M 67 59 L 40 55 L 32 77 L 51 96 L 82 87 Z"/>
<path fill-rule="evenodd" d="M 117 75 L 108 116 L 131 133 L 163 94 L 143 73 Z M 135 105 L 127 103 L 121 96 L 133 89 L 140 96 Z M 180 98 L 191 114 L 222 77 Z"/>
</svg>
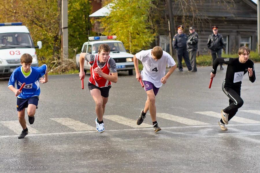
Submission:
<svg viewBox="0 0 260 173">
<path fill-rule="evenodd" d="M 48 82 L 47 65 L 44 64 L 40 67 L 31 67 L 32 57 L 30 54 L 23 54 L 21 56 L 22 66 L 17 67 L 12 73 L 8 82 L 8 88 L 13 91 L 17 96 L 17 111 L 18 119 L 23 131 L 18 138 L 24 138 L 28 134 L 28 129 L 25 121 L 25 108 L 27 108 L 27 114 L 29 123 L 34 123 L 34 114 L 38 106 L 38 100 L 40 95 L 39 82 Z M 44 75 L 44 78 L 42 76 Z M 39 80 L 40 78 L 40 80 Z M 16 82 L 17 89 L 14 88 Z M 25 86 L 22 91 L 19 91 L 22 84 L 25 82 Z"/>
</svg>

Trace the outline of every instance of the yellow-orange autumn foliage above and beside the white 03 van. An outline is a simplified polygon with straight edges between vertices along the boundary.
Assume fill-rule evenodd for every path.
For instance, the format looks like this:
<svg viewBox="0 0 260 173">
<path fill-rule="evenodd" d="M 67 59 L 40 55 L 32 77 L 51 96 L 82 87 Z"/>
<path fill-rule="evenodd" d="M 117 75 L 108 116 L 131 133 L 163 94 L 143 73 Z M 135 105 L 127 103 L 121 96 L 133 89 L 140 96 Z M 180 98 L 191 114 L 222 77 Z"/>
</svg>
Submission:
<svg viewBox="0 0 260 173">
<path fill-rule="evenodd" d="M 49 64 L 60 54 L 60 7 L 53 0 L 2 0 L 0 1 L 1 22 L 23 22 L 36 45 L 42 41 L 42 49 L 36 50 L 40 63 Z"/>
</svg>

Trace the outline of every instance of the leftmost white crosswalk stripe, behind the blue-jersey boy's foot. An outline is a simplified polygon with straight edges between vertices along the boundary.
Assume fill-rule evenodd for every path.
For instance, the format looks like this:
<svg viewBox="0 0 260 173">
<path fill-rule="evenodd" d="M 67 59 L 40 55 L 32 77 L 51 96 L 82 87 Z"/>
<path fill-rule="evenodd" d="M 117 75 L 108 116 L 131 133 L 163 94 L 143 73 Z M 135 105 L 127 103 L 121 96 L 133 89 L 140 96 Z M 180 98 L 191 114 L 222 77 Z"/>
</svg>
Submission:
<svg viewBox="0 0 260 173">
<path fill-rule="evenodd" d="M 14 131 L 16 134 L 21 134 L 23 128 L 21 127 L 19 121 L 0 121 L 1 124 L 3 124 L 5 127 L 8 129 Z M 36 129 L 30 127 L 27 125 L 28 128 L 28 133 L 33 134 L 33 133 L 40 133 Z"/>
</svg>

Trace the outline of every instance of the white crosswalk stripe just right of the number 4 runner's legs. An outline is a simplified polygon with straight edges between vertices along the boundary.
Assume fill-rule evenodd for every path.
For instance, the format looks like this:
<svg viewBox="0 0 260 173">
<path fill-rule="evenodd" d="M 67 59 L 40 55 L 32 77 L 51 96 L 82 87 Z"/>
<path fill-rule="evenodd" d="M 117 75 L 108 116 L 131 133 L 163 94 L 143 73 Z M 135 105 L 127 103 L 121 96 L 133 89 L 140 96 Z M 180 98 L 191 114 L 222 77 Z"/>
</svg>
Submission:
<svg viewBox="0 0 260 173">
<path fill-rule="evenodd" d="M 163 118 L 163 119 L 170 120 L 170 121 L 176 121 L 176 122 L 181 123 L 181 124 L 186 124 L 186 125 L 209 125 L 209 123 L 204 123 L 204 122 L 201 122 L 201 121 L 196 121 L 196 120 L 184 118 L 184 117 L 181 117 L 181 116 L 166 114 L 166 113 L 157 113 L 156 116 Z"/>
</svg>

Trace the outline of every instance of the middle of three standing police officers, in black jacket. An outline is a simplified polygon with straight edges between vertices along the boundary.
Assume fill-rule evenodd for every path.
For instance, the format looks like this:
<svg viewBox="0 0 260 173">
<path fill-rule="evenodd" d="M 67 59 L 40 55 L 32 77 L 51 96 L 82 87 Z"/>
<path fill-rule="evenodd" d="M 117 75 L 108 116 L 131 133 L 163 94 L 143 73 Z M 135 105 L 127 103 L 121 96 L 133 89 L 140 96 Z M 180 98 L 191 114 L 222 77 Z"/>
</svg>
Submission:
<svg viewBox="0 0 260 173">
<path fill-rule="evenodd" d="M 187 40 L 187 48 L 190 54 L 192 72 L 197 72 L 196 54 L 198 50 L 198 33 L 195 32 L 194 27 L 190 27 L 190 34 L 188 35 Z"/>
</svg>

